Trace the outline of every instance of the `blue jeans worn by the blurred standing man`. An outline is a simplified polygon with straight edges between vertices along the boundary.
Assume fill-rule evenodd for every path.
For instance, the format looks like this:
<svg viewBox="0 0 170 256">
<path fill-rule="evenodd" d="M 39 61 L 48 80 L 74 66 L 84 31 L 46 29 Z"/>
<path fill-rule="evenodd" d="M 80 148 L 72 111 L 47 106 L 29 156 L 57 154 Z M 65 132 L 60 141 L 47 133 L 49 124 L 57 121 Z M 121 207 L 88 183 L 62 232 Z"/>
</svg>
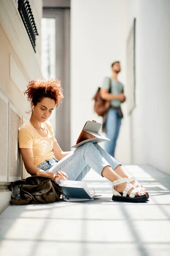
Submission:
<svg viewBox="0 0 170 256">
<path fill-rule="evenodd" d="M 106 137 L 111 141 L 105 142 L 105 150 L 114 157 L 116 140 L 119 135 L 122 118 L 119 117 L 118 110 L 110 108 L 106 120 Z"/>
</svg>

